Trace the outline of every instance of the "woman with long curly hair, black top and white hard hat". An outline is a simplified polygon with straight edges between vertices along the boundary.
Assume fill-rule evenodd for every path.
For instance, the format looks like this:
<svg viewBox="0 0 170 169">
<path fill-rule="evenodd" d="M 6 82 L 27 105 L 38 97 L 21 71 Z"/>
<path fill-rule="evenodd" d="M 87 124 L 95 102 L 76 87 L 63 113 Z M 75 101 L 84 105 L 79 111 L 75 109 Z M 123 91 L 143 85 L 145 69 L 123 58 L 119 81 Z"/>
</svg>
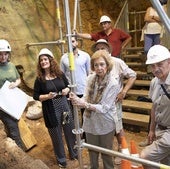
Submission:
<svg viewBox="0 0 170 169">
<path fill-rule="evenodd" d="M 77 151 L 74 149 L 76 138 L 72 133 L 74 122 L 66 97 L 70 91 L 68 85 L 68 80 L 54 59 L 53 53 L 47 48 L 41 49 L 38 55 L 33 98 L 42 102 L 45 125 L 52 140 L 58 165 L 61 168 L 65 168 L 67 165 L 62 129 L 70 159 L 77 158 Z"/>
</svg>

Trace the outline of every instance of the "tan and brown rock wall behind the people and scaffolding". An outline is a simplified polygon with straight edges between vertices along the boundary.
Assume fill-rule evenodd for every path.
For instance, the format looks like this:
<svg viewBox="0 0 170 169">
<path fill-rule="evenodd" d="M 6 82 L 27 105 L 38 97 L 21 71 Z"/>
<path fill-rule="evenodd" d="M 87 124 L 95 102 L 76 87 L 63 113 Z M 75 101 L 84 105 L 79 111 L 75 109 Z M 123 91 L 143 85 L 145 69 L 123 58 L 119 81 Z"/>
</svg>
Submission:
<svg viewBox="0 0 170 169">
<path fill-rule="evenodd" d="M 63 35 L 66 39 L 66 25 L 64 17 L 64 4 L 60 0 L 60 13 Z M 100 16 L 106 14 L 116 20 L 125 0 L 81 0 L 82 32 L 96 32 L 100 30 Z M 129 0 L 133 10 L 144 8 L 148 2 L 142 0 Z M 136 5 L 138 4 L 138 5 Z M 71 29 L 74 16 L 74 1 L 69 0 Z M 24 78 L 28 86 L 32 87 L 36 75 L 37 54 L 40 48 L 48 47 L 59 61 L 60 48 L 56 45 L 32 46 L 28 43 L 48 42 L 59 39 L 59 27 L 56 19 L 56 4 L 52 0 L 7 0 L 0 2 L 0 34 L 7 39 L 12 47 L 12 62 L 21 64 L 24 69 Z M 77 29 L 79 30 L 77 23 Z M 90 46 L 93 42 L 83 40 L 82 49 L 91 54 Z M 65 51 L 67 51 L 67 43 Z"/>
</svg>

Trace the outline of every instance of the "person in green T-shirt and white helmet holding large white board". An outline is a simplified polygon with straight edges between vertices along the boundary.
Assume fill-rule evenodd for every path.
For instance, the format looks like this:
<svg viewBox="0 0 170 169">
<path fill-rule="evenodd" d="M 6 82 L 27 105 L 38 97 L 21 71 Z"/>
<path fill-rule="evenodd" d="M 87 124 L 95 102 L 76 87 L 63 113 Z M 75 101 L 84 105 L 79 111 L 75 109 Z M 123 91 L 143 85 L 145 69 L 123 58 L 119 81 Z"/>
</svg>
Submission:
<svg viewBox="0 0 170 169">
<path fill-rule="evenodd" d="M 0 39 L 0 88 L 6 80 L 10 83 L 9 88 L 13 89 L 20 83 L 20 75 L 13 63 L 10 62 L 11 46 L 5 39 Z M 0 120 L 5 126 L 7 136 L 15 140 L 16 144 L 24 149 L 18 128 L 18 120 L 0 109 Z"/>
</svg>

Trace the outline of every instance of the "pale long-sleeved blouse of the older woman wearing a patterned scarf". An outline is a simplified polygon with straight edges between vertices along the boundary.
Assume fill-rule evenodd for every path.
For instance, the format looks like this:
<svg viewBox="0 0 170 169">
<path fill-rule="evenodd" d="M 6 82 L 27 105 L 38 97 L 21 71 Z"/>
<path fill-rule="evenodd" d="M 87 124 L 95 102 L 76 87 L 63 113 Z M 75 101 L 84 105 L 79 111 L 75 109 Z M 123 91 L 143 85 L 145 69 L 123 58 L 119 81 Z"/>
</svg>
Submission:
<svg viewBox="0 0 170 169">
<path fill-rule="evenodd" d="M 87 133 L 94 135 L 104 135 L 111 131 L 114 131 L 115 120 L 117 118 L 115 100 L 119 92 L 118 82 L 115 80 L 112 74 L 110 73 L 108 84 L 103 92 L 101 101 L 98 104 L 92 104 L 96 108 L 95 112 L 91 112 L 90 118 L 85 116 L 84 113 L 84 122 L 83 129 Z M 88 76 L 87 84 L 95 76 L 91 74 Z M 95 86 L 94 95 L 97 93 L 97 86 Z M 85 91 L 84 99 L 86 100 L 87 90 Z M 93 97 L 93 96 L 92 96 Z"/>
</svg>

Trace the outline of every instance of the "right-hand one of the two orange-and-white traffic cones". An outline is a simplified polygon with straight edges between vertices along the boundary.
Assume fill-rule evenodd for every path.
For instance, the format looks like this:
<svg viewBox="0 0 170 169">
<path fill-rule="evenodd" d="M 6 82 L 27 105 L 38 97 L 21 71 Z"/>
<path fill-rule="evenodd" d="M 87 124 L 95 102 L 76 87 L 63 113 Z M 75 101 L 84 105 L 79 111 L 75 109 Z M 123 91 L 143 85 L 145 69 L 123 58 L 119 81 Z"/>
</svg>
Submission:
<svg viewBox="0 0 170 169">
<path fill-rule="evenodd" d="M 130 141 L 130 153 L 131 153 L 131 156 L 133 157 L 139 157 L 139 153 L 138 153 L 134 140 Z M 143 169 L 143 166 L 139 163 L 133 162 L 131 169 Z"/>
</svg>

